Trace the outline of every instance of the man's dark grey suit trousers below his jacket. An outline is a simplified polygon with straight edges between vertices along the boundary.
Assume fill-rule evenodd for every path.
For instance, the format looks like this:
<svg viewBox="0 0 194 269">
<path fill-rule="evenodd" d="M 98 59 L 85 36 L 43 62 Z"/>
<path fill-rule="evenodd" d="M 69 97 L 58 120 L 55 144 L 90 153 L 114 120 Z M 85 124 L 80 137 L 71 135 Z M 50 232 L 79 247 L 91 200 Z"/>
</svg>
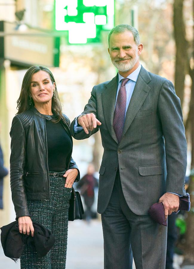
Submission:
<svg viewBox="0 0 194 269">
<path fill-rule="evenodd" d="M 165 269 L 167 227 L 155 223 L 149 215 L 136 215 L 130 210 L 119 172 L 101 219 L 104 269 L 132 269 L 133 258 L 136 269 Z"/>
</svg>

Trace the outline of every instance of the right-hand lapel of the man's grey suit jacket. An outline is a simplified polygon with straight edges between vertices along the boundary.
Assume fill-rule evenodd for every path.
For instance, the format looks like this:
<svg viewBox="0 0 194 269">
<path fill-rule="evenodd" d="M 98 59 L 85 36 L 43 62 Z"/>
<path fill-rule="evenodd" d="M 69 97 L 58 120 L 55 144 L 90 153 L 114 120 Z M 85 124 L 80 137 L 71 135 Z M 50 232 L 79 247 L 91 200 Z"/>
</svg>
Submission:
<svg viewBox="0 0 194 269">
<path fill-rule="evenodd" d="M 129 129 L 134 117 L 136 116 L 137 112 L 143 105 L 147 95 L 150 92 L 150 86 L 147 85 L 150 80 L 151 78 L 149 73 L 143 67 L 141 67 L 129 106 L 127 108 L 122 134 L 123 136 Z"/>
</svg>

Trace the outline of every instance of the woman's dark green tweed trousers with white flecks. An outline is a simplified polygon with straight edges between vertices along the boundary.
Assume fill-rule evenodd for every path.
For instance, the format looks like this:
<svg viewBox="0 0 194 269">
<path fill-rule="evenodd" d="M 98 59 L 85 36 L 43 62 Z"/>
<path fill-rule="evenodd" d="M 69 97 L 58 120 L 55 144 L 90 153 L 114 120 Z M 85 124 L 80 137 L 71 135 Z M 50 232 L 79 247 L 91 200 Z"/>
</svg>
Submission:
<svg viewBox="0 0 194 269">
<path fill-rule="evenodd" d="M 50 171 L 53 173 L 53 171 Z M 64 174 L 64 172 L 58 172 Z M 65 188 L 65 178 L 50 179 L 49 200 L 28 200 L 32 221 L 39 222 L 51 230 L 55 244 L 46 256 L 40 257 L 32 248 L 24 246 L 20 258 L 21 269 L 64 269 L 67 253 L 68 209 L 71 188 Z"/>
</svg>

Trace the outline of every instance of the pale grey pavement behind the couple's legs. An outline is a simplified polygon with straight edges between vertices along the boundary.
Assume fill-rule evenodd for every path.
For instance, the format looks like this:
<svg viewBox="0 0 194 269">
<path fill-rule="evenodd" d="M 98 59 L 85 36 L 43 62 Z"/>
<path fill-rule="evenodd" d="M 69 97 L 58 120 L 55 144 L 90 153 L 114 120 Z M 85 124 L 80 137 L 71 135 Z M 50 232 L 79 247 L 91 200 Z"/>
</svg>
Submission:
<svg viewBox="0 0 194 269">
<path fill-rule="evenodd" d="M 103 234 L 101 221 L 69 221 L 66 269 L 103 269 Z M 180 269 L 182 256 L 175 255 L 174 268 Z M 0 246 L 0 269 L 19 269 L 20 263 L 4 256 Z M 45 268 L 47 269 L 47 268 Z M 133 265 L 135 269 L 135 265 Z M 194 265 L 182 269 L 194 269 Z"/>
</svg>

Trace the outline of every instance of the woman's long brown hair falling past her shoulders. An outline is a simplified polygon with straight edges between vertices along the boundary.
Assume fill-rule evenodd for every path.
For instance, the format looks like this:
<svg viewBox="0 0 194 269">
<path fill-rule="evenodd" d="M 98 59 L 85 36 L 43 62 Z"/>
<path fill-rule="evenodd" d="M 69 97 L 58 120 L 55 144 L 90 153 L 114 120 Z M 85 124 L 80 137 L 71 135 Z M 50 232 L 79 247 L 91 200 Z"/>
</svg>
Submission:
<svg viewBox="0 0 194 269">
<path fill-rule="evenodd" d="M 20 96 L 17 100 L 17 109 L 18 109 L 17 114 L 20 114 L 20 113 L 30 109 L 32 106 L 34 106 L 34 101 L 32 98 L 31 98 L 32 104 L 30 105 L 30 83 L 31 83 L 31 79 L 32 79 L 33 74 L 35 74 L 41 70 L 45 71 L 49 74 L 49 77 L 50 77 L 52 83 L 55 82 L 53 74 L 51 73 L 51 71 L 47 67 L 41 66 L 41 65 L 31 66 L 27 70 L 26 74 L 24 75 L 24 79 L 22 81 Z M 56 102 L 54 101 L 54 97 L 52 97 L 52 112 L 53 112 L 53 114 L 56 115 L 56 119 L 52 119 L 52 121 L 57 123 L 61 120 L 61 118 L 63 118 L 63 115 L 62 115 L 61 102 L 60 102 L 59 97 L 58 97 L 56 82 L 55 82 L 55 98 L 56 98 Z"/>
</svg>

